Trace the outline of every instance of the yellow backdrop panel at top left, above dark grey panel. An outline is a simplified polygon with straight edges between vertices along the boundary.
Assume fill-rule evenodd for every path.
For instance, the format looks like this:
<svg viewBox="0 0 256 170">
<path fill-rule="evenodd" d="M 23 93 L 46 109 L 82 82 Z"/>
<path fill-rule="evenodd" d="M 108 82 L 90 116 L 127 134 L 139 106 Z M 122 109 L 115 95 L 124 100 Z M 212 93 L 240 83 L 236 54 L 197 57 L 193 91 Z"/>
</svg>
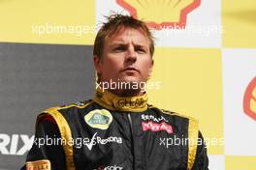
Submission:
<svg viewBox="0 0 256 170">
<path fill-rule="evenodd" d="M 0 20 L 0 42 L 92 44 L 95 2 L 4 0 Z"/>
</svg>

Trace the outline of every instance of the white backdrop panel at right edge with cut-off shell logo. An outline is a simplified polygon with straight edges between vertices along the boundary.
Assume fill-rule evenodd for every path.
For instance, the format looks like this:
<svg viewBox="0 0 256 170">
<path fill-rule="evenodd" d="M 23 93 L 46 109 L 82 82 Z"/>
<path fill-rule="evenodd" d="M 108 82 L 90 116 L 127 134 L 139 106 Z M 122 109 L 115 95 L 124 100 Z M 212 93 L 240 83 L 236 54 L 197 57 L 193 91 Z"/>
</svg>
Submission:
<svg viewBox="0 0 256 170">
<path fill-rule="evenodd" d="M 223 50 L 225 154 L 256 156 L 256 50 Z"/>
</svg>

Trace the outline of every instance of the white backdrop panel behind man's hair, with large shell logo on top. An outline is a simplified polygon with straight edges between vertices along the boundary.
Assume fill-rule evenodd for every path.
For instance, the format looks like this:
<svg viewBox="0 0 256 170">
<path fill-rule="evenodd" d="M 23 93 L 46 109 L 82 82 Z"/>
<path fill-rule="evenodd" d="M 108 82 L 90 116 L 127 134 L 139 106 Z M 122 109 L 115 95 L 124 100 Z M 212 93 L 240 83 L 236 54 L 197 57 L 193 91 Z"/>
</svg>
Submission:
<svg viewBox="0 0 256 170">
<path fill-rule="evenodd" d="M 97 22 L 103 22 L 105 15 L 114 13 L 136 15 L 148 22 L 157 46 L 221 47 L 220 0 L 180 3 L 176 0 L 97 0 L 96 3 Z M 179 16 L 182 9 L 185 10 Z"/>
</svg>

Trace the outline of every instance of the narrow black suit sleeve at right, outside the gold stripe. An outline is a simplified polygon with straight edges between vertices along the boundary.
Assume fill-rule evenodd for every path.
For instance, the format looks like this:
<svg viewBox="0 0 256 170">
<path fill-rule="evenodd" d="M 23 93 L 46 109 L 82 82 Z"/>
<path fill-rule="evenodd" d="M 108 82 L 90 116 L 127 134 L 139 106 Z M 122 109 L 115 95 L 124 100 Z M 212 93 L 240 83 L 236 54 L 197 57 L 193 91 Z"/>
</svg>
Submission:
<svg viewBox="0 0 256 170">
<path fill-rule="evenodd" d="M 198 144 L 196 159 L 192 170 L 208 170 L 207 147 L 201 131 L 199 131 L 198 138 L 202 142 Z"/>
</svg>

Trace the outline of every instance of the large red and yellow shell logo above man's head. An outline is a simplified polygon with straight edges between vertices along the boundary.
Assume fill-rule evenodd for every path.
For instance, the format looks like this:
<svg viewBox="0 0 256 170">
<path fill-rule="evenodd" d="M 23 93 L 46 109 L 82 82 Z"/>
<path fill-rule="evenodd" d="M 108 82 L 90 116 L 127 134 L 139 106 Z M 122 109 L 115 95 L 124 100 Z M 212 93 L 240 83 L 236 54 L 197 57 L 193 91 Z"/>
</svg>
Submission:
<svg viewBox="0 0 256 170">
<path fill-rule="evenodd" d="M 135 18 L 144 19 L 156 30 L 185 28 L 187 14 L 200 6 L 201 0 L 116 0 Z"/>
</svg>

